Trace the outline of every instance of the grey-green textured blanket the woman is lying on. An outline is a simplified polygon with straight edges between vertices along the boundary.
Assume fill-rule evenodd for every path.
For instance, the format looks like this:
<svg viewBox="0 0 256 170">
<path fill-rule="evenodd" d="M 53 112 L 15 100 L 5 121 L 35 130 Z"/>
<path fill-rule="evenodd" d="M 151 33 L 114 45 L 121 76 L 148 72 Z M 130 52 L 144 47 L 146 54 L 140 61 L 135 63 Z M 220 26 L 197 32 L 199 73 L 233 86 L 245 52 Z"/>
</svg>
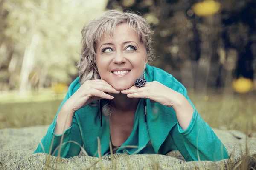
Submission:
<svg viewBox="0 0 256 170">
<path fill-rule="evenodd" d="M 42 169 L 250 169 L 256 166 L 256 138 L 247 137 L 236 130 L 216 130 L 216 135 L 227 148 L 230 159 L 218 162 L 186 162 L 178 151 L 167 155 L 114 154 L 102 159 L 79 156 L 70 159 L 57 158 L 45 153 L 32 154 L 49 126 L 0 130 L 0 170 Z"/>
</svg>

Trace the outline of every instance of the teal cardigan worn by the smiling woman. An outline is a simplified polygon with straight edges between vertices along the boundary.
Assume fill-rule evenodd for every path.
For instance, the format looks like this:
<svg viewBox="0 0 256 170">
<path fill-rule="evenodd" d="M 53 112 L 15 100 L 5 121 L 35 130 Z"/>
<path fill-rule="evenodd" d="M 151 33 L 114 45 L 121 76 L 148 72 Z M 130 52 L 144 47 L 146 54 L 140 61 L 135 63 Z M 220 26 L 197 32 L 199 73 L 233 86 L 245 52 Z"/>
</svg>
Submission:
<svg viewBox="0 0 256 170">
<path fill-rule="evenodd" d="M 227 159 L 228 153 L 220 139 L 215 135 L 211 127 L 204 122 L 198 114 L 195 106 L 187 96 L 186 88 L 171 74 L 156 67 L 146 66 L 145 79 L 148 82 L 157 81 L 167 87 L 183 94 L 194 108 L 192 120 L 186 130 L 183 130 L 173 108 L 151 103 L 147 99 L 147 122 L 144 122 L 144 102 L 140 99 L 134 118 L 134 128 L 128 139 L 116 150 L 116 153 L 126 154 L 166 154 L 171 150 L 179 150 L 186 161 L 209 160 L 219 161 Z M 79 77 L 71 83 L 67 95 L 61 106 L 80 87 Z M 60 106 L 60 108 L 61 108 Z M 58 112 L 60 111 L 58 109 Z M 58 114 L 58 113 L 57 113 Z M 49 153 L 52 144 L 52 152 L 61 142 L 61 135 L 54 135 L 56 117 L 49 126 L 47 134 L 41 140 L 34 153 Z M 67 141 L 75 141 L 81 145 L 89 156 L 98 156 L 98 142 L 100 139 L 101 155 L 109 152 L 110 130 L 108 116 L 102 116 L 100 126 L 99 107 L 87 105 L 75 112 L 72 125 L 65 130 L 60 156 L 70 158 L 79 155 L 81 148 Z M 52 143 L 53 139 L 53 143 Z M 137 146 L 129 148 L 125 146 Z M 58 155 L 58 149 L 54 156 Z M 198 158 L 199 157 L 199 158 Z"/>
</svg>

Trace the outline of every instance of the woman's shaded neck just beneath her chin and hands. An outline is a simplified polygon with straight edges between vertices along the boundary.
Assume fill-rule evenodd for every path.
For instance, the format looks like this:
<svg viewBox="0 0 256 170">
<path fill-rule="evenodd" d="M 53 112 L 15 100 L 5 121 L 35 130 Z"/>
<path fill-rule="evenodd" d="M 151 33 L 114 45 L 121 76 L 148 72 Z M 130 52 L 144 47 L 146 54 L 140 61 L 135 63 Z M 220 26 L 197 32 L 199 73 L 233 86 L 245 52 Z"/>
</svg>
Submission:
<svg viewBox="0 0 256 170">
<path fill-rule="evenodd" d="M 140 101 L 140 98 L 128 98 L 126 94 L 110 94 L 114 97 L 111 100 L 111 105 L 113 106 L 114 110 L 126 113 L 131 111 L 136 111 L 137 105 Z"/>
</svg>

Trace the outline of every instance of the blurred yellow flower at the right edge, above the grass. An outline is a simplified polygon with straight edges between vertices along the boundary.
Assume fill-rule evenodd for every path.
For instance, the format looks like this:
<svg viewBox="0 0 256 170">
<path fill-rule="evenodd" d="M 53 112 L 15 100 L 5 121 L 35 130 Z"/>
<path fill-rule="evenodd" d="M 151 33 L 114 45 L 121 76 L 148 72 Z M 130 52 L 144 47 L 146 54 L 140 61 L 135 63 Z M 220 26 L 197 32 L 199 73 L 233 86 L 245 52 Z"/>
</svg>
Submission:
<svg viewBox="0 0 256 170">
<path fill-rule="evenodd" d="M 247 93 L 253 89 L 253 81 L 244 77 L 233 80 L 233 89 L 237 93 Z"/>
</svg>

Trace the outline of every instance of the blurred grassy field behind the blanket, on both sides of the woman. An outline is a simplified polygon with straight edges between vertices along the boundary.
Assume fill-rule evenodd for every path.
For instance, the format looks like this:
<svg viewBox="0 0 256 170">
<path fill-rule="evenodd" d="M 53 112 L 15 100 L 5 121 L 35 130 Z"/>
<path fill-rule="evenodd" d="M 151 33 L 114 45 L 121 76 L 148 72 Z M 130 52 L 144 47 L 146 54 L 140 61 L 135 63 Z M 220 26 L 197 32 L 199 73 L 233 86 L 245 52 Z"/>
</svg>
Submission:
<svg viewBox="0 0 256 170">
<path fill-rule="evenodd" d="M 189 97 L 205 122 L 212 128 L 240 130 L 249 135 L 256 132 L 256 96 L 254 94 L 207 94 L 188 91 Z M 0 98 L 0 129 L 49 125 L 65 94 L 49 89 L 19 97 L 17 92 Z"/>
</svg>

